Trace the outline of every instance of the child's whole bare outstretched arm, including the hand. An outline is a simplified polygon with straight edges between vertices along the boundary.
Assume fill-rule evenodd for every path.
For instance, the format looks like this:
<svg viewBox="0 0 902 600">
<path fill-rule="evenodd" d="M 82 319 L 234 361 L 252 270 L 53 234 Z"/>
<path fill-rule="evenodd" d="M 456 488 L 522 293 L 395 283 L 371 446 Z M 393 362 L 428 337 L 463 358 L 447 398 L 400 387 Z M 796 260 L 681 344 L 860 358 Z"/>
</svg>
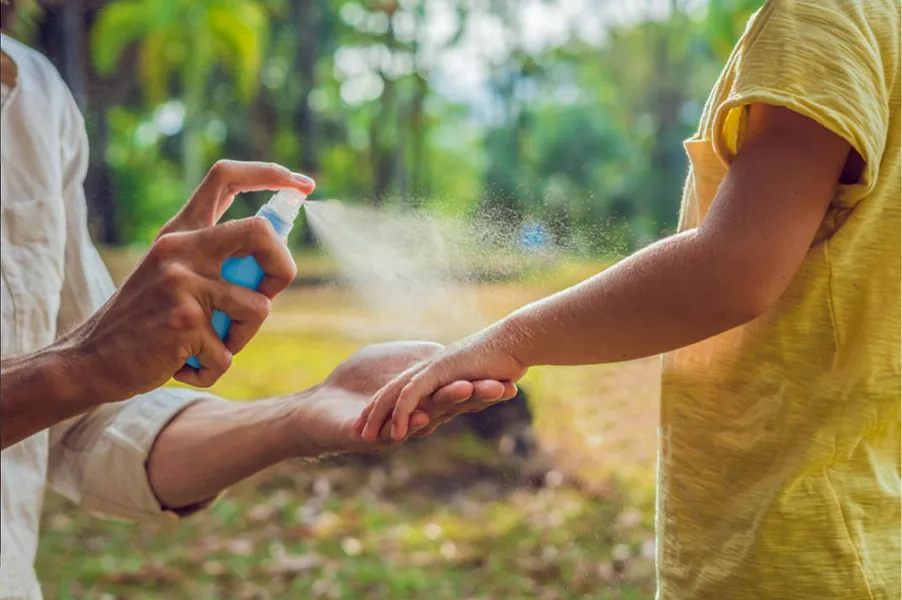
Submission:
<svg viewBox="0 0 902 600">
<path fill-rule="evenodd" d="M 420 399 L 451 381 L 517 381 L 531 366 L 652 356 L 756 318 L 795 276 L 856 157 L 848 142 L 811 119 L 751 106 L 745 141 L 700 227 L 413 367 L 374 397 L 358 429 L 369 439 L 394 413 L 393 435 L 402 439 Z"/>
</svg>

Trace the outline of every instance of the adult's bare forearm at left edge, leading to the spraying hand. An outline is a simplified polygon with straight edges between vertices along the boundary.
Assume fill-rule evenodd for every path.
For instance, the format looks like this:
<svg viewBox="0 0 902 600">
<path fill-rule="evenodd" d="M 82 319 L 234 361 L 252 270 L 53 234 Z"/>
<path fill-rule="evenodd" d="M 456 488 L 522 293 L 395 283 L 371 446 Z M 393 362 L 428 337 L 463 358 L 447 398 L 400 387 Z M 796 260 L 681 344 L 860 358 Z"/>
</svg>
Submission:
<svg viewBox="0 0 902 600">
<path fill-rule="evenodd" d="M 57 343 L 38 352 L 0 360 L 0 447 L 7 448 L 94 406 L 91 373 L 77 348 Z"/>
</svg>

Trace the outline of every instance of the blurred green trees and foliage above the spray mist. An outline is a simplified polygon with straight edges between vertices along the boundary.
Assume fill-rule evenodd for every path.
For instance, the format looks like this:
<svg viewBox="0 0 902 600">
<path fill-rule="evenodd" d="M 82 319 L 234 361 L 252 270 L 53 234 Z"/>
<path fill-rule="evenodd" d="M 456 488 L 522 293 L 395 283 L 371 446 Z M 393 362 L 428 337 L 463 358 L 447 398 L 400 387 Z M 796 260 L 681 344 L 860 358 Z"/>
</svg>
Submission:
<svg viewBox="0 0 902 600">
<path fill-rule="evenodd" d="M 605 252 L 674 228 L 681 141 L 760 4 L 112 0 L 46 3 L 26 30 L 108 171 L 101 243 L 148 242 L 231 157 L 308 172 L 320 198 L 529 217 Z"/>
</svg>

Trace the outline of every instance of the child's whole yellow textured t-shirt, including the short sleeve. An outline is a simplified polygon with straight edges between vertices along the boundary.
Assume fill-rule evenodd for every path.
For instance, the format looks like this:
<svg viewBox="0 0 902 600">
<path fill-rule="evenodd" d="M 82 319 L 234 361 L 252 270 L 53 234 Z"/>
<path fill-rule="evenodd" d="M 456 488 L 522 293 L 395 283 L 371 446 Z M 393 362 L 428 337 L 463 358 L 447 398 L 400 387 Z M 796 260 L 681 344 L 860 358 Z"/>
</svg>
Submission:
<svg viewBox="0 0 902 600">
<path fill-rule="evenodd" d="M 747 107 L 786 106 L 864 158 L 762 317 L 664 360 L 662 600 L 900 597 L 899 0 L 772 0 L 686 142 L 705 218 Z"/>
</svg>

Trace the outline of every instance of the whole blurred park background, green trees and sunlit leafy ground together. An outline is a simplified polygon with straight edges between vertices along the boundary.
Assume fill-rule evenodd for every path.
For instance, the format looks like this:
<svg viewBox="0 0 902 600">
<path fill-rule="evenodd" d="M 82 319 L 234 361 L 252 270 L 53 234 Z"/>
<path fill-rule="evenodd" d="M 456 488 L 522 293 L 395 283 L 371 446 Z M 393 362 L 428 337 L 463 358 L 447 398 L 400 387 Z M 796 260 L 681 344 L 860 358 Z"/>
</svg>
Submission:
<svg viewBox="0 0 902 600">
<path fill-rule="evenodd" d="M 214 160 L 274 160 L 318 198 L 490 214 L 553 244 L 541 268 L 470 284 L 488 322 L 673 230 L 681 141 L 760 4 L 48 0 L 17 35 L 85 112 L 91 229 L 117 278 Z M 301 389 L 392 337 L 309 229 L 292 244 L 299 284 L 223 395 Z M 113 524 L 51 497 L 46 596 L 651 598 L 657 370 L 537 370 L 493 427 L 283 465 L 184 524 Z"/>
</svg>

